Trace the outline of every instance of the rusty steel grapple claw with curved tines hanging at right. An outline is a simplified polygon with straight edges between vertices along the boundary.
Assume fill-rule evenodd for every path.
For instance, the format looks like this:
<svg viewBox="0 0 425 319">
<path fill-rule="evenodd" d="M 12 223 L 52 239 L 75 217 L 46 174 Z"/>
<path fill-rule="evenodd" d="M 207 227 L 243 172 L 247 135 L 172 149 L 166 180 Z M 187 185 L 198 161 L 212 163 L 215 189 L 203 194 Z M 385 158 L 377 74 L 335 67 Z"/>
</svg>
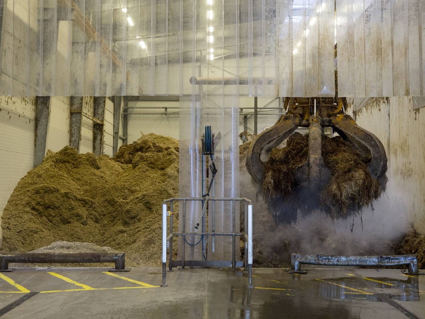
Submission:
<svg viewBox="0 0 425 319">
<path fill-rule="evenodd" d="M 382 143 L 345 114 L 348 105 L 345 98 L 286 98 L 285 104 L 287 113 L 275 125 L 259 134 L 247 151 L 246 169 L 256 182 L 263 183 L 267 153 L 298 127 L 309 128 L 307 162 L 295 170 L 298 185 L 320 194 L 331 178 L 331 172 L 324 164 L 321 154 L 322 136 L 326 127 L 331 127 L 359 151 L 372 178 L 379 180 L 385 176 L 387 156 Z"/>
</svg>

